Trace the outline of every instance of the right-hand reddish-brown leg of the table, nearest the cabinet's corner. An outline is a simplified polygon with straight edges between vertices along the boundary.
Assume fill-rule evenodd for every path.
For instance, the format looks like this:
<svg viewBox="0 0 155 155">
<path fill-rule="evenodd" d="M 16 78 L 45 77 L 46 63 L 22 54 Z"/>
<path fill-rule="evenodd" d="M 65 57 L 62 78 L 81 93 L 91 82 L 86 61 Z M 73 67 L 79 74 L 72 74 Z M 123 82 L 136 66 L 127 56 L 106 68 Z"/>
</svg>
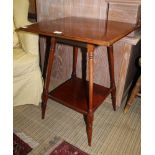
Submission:
<svg viewBox="0 0 155 155">
<path fill-rule="evenodd" d="M 112 105 L 113 105 L 113 109 L 115 111 L 116 110 L 116 86 L 115 86 L 115 77 L 114 77 L 114 56 L 113 56 L 113 46 L 112 45 L 107 47 L 107 52 L 108 52 L 108 62 L 109 62 Z"/>
</svg>

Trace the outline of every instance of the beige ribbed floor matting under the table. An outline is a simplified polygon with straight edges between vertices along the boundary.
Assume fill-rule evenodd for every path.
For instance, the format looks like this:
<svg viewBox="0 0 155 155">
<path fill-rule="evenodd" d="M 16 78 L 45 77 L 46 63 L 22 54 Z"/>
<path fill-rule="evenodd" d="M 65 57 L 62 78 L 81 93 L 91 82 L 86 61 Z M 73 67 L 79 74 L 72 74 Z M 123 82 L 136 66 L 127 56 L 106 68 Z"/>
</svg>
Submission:
<svg viewBox="0 0 155 155">
<path fill-rule="evenodd" d="M 87 143 L 83 116 L 52 100 L 48 101 L 44 120 L 40 107 L 15 107 L 14 129 L 39 143 L 31 155 L 43 155 L 54 138 L 62 138 L 90 155 L 140 155 L 140 99 L 135 102 L 127 114 L 123 113 L 124 105 L 114 112 L 109 103 L 96 110 L 92 147 Z"/>
</svg>

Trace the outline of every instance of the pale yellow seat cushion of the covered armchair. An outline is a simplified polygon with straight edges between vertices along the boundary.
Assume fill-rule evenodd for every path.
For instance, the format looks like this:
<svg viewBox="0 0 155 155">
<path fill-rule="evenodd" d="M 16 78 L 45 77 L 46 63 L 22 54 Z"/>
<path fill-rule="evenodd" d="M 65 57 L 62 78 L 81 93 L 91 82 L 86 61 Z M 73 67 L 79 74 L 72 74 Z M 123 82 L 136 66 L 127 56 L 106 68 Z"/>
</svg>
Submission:
<svg viewBox="0 0 155 155">
<path fill-rule="evenodd" d="M 39 68 L 38 56 L 26 53 L 22 48 L 13 49 L 13 76 L 31 73 Z"/>
</svg>

